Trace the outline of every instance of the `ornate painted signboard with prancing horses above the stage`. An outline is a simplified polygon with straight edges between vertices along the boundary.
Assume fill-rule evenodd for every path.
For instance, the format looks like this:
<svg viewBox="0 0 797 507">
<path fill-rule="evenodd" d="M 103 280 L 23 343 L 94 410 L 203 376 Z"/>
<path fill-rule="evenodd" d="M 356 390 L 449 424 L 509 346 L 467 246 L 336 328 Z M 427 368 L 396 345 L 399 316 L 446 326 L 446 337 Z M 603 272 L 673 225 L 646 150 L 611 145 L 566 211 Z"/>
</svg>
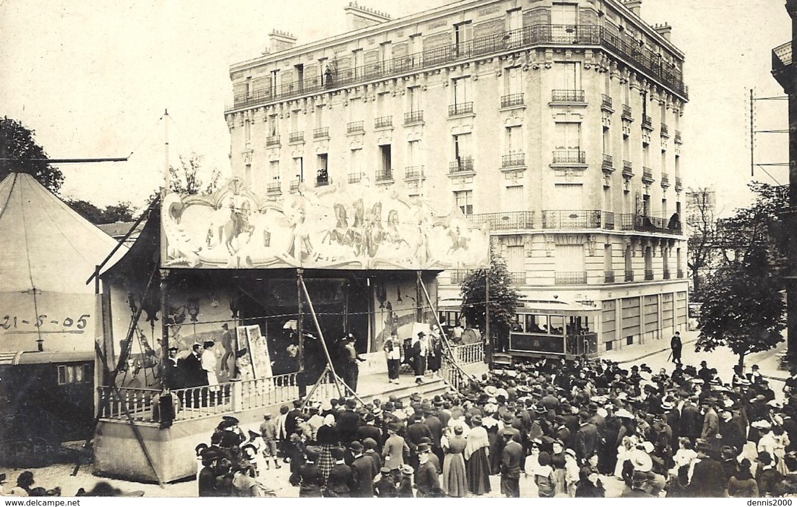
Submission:
<svg viewBox="0 0 797 507">
<path fill-rule="evenodd" d="M 162 266 L 186 268 L 479 269 L 489 233 L 454 207 L 367 184 L 312 188 L 261 202 L 240 179 L 215 195 L 163 198 Z"/>
</svg>

